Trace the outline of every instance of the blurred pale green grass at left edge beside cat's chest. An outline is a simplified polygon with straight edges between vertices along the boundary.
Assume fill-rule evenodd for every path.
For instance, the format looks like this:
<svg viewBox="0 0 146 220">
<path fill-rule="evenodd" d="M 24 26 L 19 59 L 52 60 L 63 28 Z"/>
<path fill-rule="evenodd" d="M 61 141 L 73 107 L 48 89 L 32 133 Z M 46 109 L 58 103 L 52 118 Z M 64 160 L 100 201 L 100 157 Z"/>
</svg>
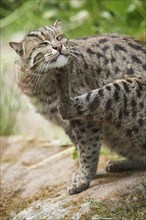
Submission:
<svg viewBox="0 0 146 220">
<path fill-rule="evenodd" d="M 20 109 L 18 90 L 9 62 L 2 60 L 0 79 L 0 135 L 11 135 L 16 132 L 17 113 Z M 11 67 L 12 68 L 12 67 Z"/>
</svg>

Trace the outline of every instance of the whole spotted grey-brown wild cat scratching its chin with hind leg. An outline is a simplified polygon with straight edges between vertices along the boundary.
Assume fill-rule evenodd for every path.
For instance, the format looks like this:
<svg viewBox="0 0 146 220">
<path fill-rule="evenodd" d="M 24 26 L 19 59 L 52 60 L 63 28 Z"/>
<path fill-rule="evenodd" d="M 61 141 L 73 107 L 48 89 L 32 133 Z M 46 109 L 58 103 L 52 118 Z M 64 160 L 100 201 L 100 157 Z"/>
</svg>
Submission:
<svg viewBox="0 0 146 220">
<path fill-rule="evenodd" d="M 69 194 L 87 189 L 95 177 L 101 143 L 128 157 L 124 162 L 110 162 L 107 171 L 146 168 L 144 45 L 119 34 L 68 40 L 55 22 L 10 46 L 19 55 L 21 91 L 37 112 L 64 128 L 79 151 L 79 170 Z M 63 74 L 66 84 L 60 82 L 65 86 L 61 88 L 57 82 Z M 75 97 L 71 98 L 75 105 L 69 108 L 71 114 L 70 96 Z"/>
</svg>

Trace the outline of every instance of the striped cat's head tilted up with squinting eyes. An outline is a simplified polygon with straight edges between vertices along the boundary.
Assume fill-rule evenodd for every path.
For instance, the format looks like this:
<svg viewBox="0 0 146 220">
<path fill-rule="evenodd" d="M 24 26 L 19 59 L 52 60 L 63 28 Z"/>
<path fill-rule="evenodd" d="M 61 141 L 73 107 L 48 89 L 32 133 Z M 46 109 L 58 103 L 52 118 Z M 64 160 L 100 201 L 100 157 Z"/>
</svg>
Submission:
<svg viewBox="0 0 146 220">
<path fill-rule="evenodd" d="M 58 21 L 53 26 L 30 32 L 19 43 L 10 42 L 10 46 L 28 68 L 39 73 L 66 65 L 70 55 L 69 42 Z"/>
</svg>

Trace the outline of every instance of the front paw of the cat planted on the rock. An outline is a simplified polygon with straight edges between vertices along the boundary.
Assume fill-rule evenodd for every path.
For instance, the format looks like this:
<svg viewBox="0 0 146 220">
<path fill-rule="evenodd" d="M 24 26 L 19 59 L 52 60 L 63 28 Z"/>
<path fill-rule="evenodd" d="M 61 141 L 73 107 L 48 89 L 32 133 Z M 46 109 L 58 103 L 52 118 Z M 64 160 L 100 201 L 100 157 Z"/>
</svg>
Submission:
<svg viewBox="0 0 146 220">
<path fill-rule="evenodd" d="M 89 184 L 90 180 L 86 176 L 79 176 L 79 174 L 76 174 L 73 183 L 68 187 L 67 191 L 69 195 L 74 195 L 87 189 Z"/>
</svg>

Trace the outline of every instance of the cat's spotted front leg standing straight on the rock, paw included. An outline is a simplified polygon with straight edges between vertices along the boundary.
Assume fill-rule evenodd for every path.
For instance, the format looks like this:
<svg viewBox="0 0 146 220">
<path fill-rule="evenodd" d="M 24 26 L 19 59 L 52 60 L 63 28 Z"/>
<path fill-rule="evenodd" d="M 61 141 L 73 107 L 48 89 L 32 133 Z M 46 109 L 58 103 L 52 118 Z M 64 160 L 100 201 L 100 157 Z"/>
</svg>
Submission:
<svg viewBox="0 0 146 220">
<path fill-rule="evenodd" d="M 76 134 L 79 152 L 79 169 L 73 175 L 72 184 L 68 188 L 68 193 L 73 195 L 87 189 L 96 176 L 102 131 L 93 122 L 72 121 L 71 127 Z"/>
</svg>

